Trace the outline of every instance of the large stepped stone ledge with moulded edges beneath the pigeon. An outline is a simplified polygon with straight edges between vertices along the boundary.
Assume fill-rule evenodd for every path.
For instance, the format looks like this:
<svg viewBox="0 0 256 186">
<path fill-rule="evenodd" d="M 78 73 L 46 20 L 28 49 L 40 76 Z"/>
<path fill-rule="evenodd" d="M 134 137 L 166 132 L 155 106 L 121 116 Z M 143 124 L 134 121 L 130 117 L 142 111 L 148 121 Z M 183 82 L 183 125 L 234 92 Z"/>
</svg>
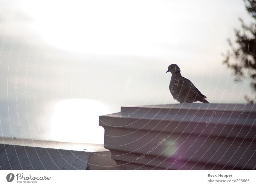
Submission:
<svg viewBox="0 0 256 186">
<path fill-rule="evenodd" d="M 120 170 L 254 170 L 255 116 L 252 104 L 126 106 L 99 125 Z"/>
</svg>

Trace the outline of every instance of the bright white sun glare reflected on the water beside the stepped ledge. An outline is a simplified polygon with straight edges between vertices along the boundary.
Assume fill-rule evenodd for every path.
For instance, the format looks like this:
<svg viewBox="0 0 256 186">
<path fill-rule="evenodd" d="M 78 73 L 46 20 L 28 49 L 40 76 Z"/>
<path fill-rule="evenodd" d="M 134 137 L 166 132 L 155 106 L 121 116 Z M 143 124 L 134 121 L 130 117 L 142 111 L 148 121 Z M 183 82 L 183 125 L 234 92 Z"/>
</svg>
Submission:
<svg viewBox="0 0 256 186">
<path fill-rule="evenodd" d="M 104 143 L 99 115 L 108 114 L 108 106 L 95 100 L 67 99 L 54 106 L 49 140 L 80 143 Z"/>
</svg>

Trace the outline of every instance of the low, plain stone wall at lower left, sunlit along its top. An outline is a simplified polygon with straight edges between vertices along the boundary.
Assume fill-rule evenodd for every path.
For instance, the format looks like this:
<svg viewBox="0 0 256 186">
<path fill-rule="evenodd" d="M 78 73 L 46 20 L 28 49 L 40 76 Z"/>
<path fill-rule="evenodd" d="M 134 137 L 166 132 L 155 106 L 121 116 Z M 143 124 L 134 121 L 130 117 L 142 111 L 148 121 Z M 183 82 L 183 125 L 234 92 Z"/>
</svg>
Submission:
<svg viewBox="0 0 256 186">
<path fill-rule="evenodd" d="M 116 170 L 101 144 L 0 138 L 1 170 Z"/>
</svg>

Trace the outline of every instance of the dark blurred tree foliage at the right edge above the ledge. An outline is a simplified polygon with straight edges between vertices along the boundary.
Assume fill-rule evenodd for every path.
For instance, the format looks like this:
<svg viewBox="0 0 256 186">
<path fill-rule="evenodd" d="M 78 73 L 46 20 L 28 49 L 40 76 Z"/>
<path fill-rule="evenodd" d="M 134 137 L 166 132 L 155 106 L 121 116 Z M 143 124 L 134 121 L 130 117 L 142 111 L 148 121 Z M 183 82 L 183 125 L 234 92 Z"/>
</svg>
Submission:
<svg viewBox="0 0 256 186">
<path fill-rule="evenodd" d="M 236 30 L 236 42 L 228 40 L 231 50 L 227 52 L 223 61 L 228 67 L 233 69 L 235 81 L 250 79 L 250 92 L 245 98 L 249 103 L 255 103 L 256 97 L 252 97 L 256 92 L 256 0 L 245 1 L 246 10 L 252 16 L 251 25 L 242 23 L 242 30 Z"/>
</svg>

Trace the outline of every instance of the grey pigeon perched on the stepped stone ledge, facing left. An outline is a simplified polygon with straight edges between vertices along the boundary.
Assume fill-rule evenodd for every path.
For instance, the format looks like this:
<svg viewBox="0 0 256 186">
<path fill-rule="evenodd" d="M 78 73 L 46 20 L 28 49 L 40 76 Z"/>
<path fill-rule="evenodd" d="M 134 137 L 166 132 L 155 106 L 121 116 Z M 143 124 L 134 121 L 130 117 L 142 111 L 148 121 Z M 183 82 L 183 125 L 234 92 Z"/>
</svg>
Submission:
<svg viewBox="0 0 256 186">
<path fill-rule="evenodd" d="M 189 81 L 187 78 L 184 78 L 180 74 L 180 67 L 176 64 L 168 66 L 167 72 L 172 73 L 171 82 L 170 82 L 170 92 L 172 97 L 180 103 L 193 103 L 200 101 L 202 103 L 209 103 L 195 85 Z"/>
</svg>

